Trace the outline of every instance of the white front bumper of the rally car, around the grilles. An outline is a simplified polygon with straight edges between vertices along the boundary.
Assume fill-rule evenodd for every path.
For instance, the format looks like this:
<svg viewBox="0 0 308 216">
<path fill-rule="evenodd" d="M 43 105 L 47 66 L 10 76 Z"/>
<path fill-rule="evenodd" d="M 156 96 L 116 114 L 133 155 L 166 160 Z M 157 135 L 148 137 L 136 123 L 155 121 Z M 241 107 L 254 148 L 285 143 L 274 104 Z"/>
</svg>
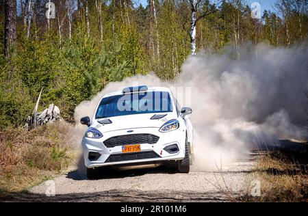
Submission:
<svg viewBox="0 0 308 216">
<path fill-rule="evenodd" d="M 127 131 L 133 132 L 128 133 Z M 155 144 L 140 144 L 140 153 L 145 155 L 144 157 L 141 157 L 141 154 L 138 154 L 138 156 L 135 157 L 133 155 L 129 155 L 131 153 L 123 153 L 122 146 L 114 146 L 113 148 L 107 148 L 103 144 L 103 141 L 109 139 L 110 137 L 142 133 L 153 134 L 159 137 L 157 143 Z M 164 150 L 166 146 L 174 144 L 176 144 L 179 148 L 177 152 L 170 153 Z M 185 157 L 185 130 L 179 127 L 179 129 L 167 133 L 159 132 L 159 128 L 140 128 L 110 131 L 107 133 L 103 133 L 103 137 L 101 137 L 100 139 L 90 139 L 84 137 L 82 140 L 82 147 L 84 152 L 85 165 L 88 168 L 107 165 L 123 165 L 129 163 L 142 164 L 149 162 L 155 163 L 157 161 L 177 161 Z M 90 152 L 95 152 L 94 154 L 99 153 L 100 155 L 98 154 L 99 157 L 94 160 L 89 160 Z M 153 157 L 151 157 L 151 155 L 153 155 Z"/>
</svg>

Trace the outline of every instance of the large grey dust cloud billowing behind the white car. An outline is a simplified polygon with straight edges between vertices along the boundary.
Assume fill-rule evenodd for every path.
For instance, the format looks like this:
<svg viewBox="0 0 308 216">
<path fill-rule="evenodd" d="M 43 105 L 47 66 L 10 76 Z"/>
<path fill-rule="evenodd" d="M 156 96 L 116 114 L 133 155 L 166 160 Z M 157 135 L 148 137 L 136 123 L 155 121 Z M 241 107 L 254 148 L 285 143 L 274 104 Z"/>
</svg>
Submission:
<svg viewBox="0 0 308 216">
<path fill-rule="evenodd" d="M 189 105 L 194 126 L 193 170 L 228 165 L 259 144 L 303 138 L 305 87 L 308 87 L 307 46 L 289 49 L 260 44 L 242 48 L 240 60 L 220 55 L 191 56 L 175 81 L 153 72 L 109 83 L 92 100 L 75 109 L 75 121 L 94 113 L 101 97 L 132 85 L 170 87 L 182 106 Z M 189 93 L 189 94 L 188 94 Z M 183 96 L 185 94 L 185 96 Z M 184 100 L 185 99 L 185 100 Z M 76 124 L 81 142 L 86 126 Z"/>
</svg>

